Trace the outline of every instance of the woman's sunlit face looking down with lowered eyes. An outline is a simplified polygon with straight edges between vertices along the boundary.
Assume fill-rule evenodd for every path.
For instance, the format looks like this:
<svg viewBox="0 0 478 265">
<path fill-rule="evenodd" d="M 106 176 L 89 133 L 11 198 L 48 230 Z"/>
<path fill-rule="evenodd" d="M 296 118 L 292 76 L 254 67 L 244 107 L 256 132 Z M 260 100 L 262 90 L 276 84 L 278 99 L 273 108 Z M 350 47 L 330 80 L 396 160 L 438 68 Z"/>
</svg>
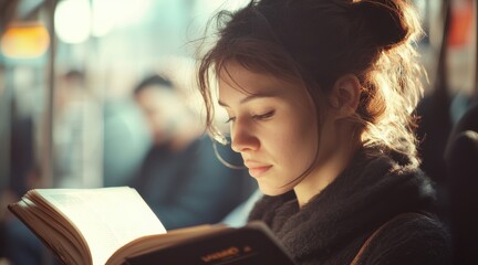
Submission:
<svg viewBox="0 0 478 265">
<path fill-rule="evenodd" d="M 228 63 L 219 105 L 229 116 L 232 149 L 242 155 L 261 191 L 282 194 L 314 161 L 318 123 L 305 87 Z"/>
</svg>

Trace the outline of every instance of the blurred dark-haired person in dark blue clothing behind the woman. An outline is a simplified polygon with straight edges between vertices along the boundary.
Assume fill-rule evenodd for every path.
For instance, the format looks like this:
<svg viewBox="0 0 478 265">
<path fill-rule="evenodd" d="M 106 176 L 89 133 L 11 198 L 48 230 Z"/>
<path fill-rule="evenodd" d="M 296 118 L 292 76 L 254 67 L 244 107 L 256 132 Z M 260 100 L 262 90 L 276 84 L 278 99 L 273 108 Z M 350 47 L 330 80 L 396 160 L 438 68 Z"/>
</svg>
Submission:
<svg viewBox="0 0 478 265">
<path fill-rule="evenodd" d="M 240 165 L 232 150 L 215 151 L 200 117 L 170 80 L 152 75 L 134 89 L 152 147 L 132 186 L 143 195 L 166 229 L 217 223 L 253 190 L 245 170 L 230 169 L 221 159 Z"/>
</svg>

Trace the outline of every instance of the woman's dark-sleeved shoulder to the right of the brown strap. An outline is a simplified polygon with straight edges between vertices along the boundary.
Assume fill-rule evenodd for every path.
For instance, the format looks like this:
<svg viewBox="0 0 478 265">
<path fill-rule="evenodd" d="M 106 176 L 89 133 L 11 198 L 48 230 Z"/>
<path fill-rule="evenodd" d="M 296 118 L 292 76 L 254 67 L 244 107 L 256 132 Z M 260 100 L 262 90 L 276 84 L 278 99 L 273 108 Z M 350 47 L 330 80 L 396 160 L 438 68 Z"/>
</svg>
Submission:
<svg viewBox="0 0 478 265">
<path fill-rule="evenodd" d="M 402 214 L 371 241 L 360 264 L 450 264 L 450 236 L 433 215 Z"/>
</svg>

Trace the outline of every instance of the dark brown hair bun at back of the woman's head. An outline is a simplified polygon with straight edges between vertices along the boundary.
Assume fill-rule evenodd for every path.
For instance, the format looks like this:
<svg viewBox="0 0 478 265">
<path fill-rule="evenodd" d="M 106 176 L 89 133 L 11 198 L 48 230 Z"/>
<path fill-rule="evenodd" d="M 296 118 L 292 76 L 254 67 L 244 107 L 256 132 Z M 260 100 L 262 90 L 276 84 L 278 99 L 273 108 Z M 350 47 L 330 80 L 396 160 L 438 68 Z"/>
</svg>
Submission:
<svg viewBox="0 0 478 265">
<path fill-rule="evenodd" d="M 377 44 L 391 49 L 409 35 L 411 29 L 404 18 L 403 0 L 363 0 L 353 3 L 354 11 L 372 29 Z"/>
</svg>

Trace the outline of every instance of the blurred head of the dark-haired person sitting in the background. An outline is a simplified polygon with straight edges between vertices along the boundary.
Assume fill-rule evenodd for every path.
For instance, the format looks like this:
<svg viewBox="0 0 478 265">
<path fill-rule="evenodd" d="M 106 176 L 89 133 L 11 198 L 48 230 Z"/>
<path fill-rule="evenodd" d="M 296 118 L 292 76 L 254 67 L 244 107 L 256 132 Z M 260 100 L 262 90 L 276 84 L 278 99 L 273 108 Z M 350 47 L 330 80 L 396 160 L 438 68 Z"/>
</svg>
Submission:
<svg viewBox="0 0 478 265">
<path fill-rule="evenodd" d="M 153 75 L 139 83 L 133 93 L 145 115 L 154 142 L 160 145 L 169 141 L 188 113 L 173 83 L 166 77 Z"/>
</svg>

